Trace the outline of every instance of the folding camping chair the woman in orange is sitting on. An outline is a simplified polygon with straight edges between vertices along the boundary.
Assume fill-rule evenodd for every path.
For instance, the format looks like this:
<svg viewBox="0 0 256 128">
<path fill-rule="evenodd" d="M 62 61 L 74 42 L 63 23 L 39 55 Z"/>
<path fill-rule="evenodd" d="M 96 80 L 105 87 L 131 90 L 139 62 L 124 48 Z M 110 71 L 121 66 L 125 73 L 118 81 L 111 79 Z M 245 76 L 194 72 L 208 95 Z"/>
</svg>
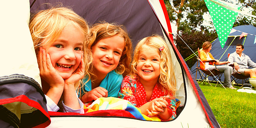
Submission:
<svg viewBox="0 0 256 128">
<path fill-rule="evenodd" d="M 221 76 L 222 76 L 222 72 L 220 72 L 217 68 L 216 68 L 216 65 L 215 65 L 215 68 L 216 69 L 213 69 L 213 70 L 205 70 L 205 69 L 201 69 L 200 68 L 200 66 L 198 67 L 198 61 L 201 61 L 201 59 L 200 59 L 200 56 L 199 56 L 199 48 L 197 49 L 197 51 L 198 51 L 198 58 L 197 58 L 197 66 L 196 66 L 196 75 L 197 75 L 197 70 L 199 71 L 199 75 L 200 75 L 200 78 L 199 78 L 199 80 L 202 78 L 202 81 L 201 82 L 203 82 L 203 84 L 205 85 L 206 84 L 206 81 L 210 84 L 210 86 L 212 86 L 211 85 L 211 83 L 210 82 L 212 82 L 212 81 L 217 81 L 216 80 L 216 78 L 219 80 L 219 81 L 221 81 Z M 203 62 L 217 62 L 216 60 L 209 60 L 209 61 L 203 61 Z M 212 78 L 213 78 L 213 80 L 212 81 L 208 81 L 208 77 L 209 76 L 211 76 Z M 216 78 L 214 77 L 214 76 L 217 76 Z M 204 78 L 204 80 L 203 80 L 203 78 Z M 199 82 L 199 80 L 197 81 L 197 82 Z M 215 85 L 215 87 L 217 86 L 217 84 L 219 83 L 219 81 L 217 81 L 217 83 L 216 83 L 216 85 Z M 200 82 L 200 83 L 201 83 Z M 198 83 L 198 84 L 200 84 L 200 83 Z"/>
</svg>

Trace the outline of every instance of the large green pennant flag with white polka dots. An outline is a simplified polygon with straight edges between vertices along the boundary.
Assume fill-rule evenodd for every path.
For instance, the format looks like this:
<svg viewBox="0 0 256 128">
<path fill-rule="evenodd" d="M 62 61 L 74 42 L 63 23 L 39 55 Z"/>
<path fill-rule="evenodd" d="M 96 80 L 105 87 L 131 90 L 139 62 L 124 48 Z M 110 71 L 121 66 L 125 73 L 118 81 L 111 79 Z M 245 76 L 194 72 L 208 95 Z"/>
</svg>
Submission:
<svg viewBox="0 0 256 128">
<path fill-rule="evenodd" d="M 229 10 L 225 7 L 222 7 L 210 0 L 204 0 L 205 4 L 210 12 L 211 18 L 213 20 L 214 26 L 216 28 L 219 40 L 220 40 L 220 45 L 223 49 L 227 39 L 228 35 L 234 25 L 234 22 L 237 18 L 236 12 Z M 226 5 L 222 1 L 217 1 L 217 3 Z M 234 4 L 235 5 L 235 4 Z M 227 5 L 228 6 L 228 5 Z M 232 7 L 234 8 L 234 7 Z M 236 5 L 235 9 L 240 9 L 240 6 Z"/>
</svg>

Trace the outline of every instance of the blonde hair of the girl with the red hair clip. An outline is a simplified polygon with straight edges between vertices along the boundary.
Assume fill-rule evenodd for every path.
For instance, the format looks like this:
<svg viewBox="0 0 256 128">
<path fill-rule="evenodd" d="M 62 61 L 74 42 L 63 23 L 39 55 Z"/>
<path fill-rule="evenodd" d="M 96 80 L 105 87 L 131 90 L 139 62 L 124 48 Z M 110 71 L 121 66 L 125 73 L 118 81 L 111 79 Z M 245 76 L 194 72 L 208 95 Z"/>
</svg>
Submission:
<svg viewBox="0 0 256 128">
<path fill-rule="evenodd" d="M 167 93 L 173 93 L 175 95 L 175 92 L 177 90 L 176 78 L 174 76 L 174 68 L 172 58 L 170 55 L 170 50 L 164 39 L 159 35 L 145 37 L 142 40 L 140 40 L 140 42 L 138 42 L 134 50 L 132 71 L 130 74 L 135 75 L 137 78 L 140 77 L 137 74 L 136 68 L 138 63 L 138 56 L 141 52 L 141 49 L 145 46 L 156 49 L 158 51 L 158 54 L 160 55 L 160 76 L 158 81 L 161 84 L 161 89 L 166 91 Z M 161 47 L 164 47 L 162 51 L 159 50 L 159 48 Z"/>
</svg>

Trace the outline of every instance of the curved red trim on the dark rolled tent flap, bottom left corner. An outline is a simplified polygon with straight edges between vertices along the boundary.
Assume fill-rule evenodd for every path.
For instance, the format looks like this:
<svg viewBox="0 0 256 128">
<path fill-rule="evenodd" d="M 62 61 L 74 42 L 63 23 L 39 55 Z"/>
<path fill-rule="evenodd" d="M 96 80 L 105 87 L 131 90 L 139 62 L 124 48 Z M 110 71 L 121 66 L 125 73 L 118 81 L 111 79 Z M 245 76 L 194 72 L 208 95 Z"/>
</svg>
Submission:
<svg viewBox="0 0 256 128">
<path fill-rule="evenodd" d="M 19 95 L 19 96 L 14 97 L 14 98 L 7 98 L 7 99 L 1 99 L 0 100 L 1 105 L 2 104 L 7 104 L 7 103 L 13 103 L 13 102 L 26 103 L 28 106 L 34 107 L 34 108 L 38 109 L 39 111 L 41 111 L 49 119 L 46 122 L 35 126 L 35 128 L 37 128 L 37 127 L 47 127 L 48 125 L 50 125 L 51 120 L 50 120 L 49 114 L 42 108 L 42 106 L 38 102 L 36 102 L 34 100 L 30 100 L 26 95 Z"/>
</svg>

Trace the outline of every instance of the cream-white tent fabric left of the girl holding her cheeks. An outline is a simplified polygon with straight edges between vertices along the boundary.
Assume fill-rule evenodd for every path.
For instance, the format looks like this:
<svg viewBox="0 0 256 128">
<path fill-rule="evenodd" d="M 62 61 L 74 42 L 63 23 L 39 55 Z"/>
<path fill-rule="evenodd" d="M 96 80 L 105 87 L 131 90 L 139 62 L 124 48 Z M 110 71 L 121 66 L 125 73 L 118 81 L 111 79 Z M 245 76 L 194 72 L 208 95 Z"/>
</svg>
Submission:
<svg viewBox="0 0 256 128">
<path fill-rule="evenodd" d="M 2 59 L 0 76 L 23 74 L 33 78 L 41 85 L 36 53 L 28 28 L 29 1 L 1 1 L 1 5 L 1 17 L 4 19 L 1 19 L 0 24 L 0 55 Z"/>
</svg>

